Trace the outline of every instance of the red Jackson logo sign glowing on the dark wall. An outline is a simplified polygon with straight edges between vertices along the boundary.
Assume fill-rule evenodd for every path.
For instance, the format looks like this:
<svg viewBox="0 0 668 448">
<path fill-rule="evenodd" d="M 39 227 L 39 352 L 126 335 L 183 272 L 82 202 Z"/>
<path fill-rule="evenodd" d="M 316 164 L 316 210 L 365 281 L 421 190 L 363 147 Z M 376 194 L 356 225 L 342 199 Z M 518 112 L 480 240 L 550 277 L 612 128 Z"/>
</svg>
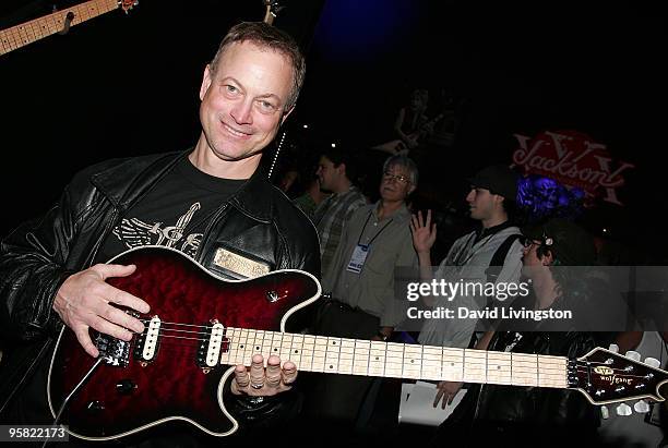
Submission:
<svg viewBox="0 0 668 448">
<path fill-rule="evenodd" d="M 520 147 L 513 162 L 526 174 L 551 178 L 563 185 L 584 191 L 588 202 L 596 197 L 622 205 L 617 189 L 624 184 L 623 173 L 633 164 L 613 160 L 606 145 L 577 131 L 545 131 L 534 138 L 514 134 Z"/>
</svg>

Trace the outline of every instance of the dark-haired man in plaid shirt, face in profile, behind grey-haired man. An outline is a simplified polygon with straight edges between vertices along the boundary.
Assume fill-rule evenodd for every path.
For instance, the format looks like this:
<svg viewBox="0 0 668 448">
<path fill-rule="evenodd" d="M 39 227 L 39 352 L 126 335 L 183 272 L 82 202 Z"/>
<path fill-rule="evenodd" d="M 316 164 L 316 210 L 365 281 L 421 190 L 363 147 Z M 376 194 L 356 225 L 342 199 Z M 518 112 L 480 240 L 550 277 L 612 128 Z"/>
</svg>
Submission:
<svg viewBox="0 0 668 448">
<path fill-rule="evenodd" d="M 351 154 L 345 149 L 329 148 L 320 156 L 315 172 L 320 189 L 332 192 L 313 213 L 323 275 L 330 269 L 344 223 L 353 211 L 367 204 L 367 197 L 353 184 L 354 169 Z"/>
</svg>

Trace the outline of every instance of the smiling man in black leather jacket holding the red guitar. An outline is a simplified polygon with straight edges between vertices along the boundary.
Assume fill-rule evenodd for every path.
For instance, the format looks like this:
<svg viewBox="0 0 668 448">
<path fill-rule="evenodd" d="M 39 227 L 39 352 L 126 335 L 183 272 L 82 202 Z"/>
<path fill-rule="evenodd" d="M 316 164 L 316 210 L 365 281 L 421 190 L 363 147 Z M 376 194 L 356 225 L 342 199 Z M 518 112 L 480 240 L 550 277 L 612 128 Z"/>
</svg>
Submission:
<svg viewBox="0 0 668 448">
<path fill-rule="evenodd" d="M 204 69 L 194 149 L 90 167 L 41 219 L 2 241 L 0 296 L 9 320 L 2 324 L 15 337 L 2 366 L 7 419 L 52 421 L 45 370 L 63 324 L 91 356 L 99 350 L 90 329 L 124 341 L 144 330 L 111 304 L 140 313 L 150 304 L 105 282 L 135 270 L 105 264 L 129 247 L 171 247 L 225 278 L 284 268 L 320 273 L 313 226 L 258 170 L 262 150 L 295 107 L 305 70 L 285 33 L 264 23 L 236 25 Z M 271 416 L 282 404 L 264 397 L 289 389 L 296 365 L 282 368 L 271 356 L 265 370 L 264 362 L 255 355 L 250 372 L 237 366 L 232 412 Z"/>
</svg>

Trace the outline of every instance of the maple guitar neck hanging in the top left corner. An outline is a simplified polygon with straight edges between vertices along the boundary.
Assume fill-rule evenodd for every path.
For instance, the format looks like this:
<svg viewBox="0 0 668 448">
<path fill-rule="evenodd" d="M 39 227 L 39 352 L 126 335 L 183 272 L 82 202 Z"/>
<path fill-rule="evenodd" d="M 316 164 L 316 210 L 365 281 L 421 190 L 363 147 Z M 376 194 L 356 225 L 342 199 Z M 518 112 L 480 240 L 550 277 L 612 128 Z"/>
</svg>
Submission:
<svg viewBox="0 0 668 448">
<path fill-rule="evenodd" d="M 74 14 L 70 22 L 70 25 L 73 26 L 117 8 L 117 0 L 92 0 L 2 29 L 0 31 L 0 55 L 16 50 L 62 31 L 70 12 Z"/>
</svg>

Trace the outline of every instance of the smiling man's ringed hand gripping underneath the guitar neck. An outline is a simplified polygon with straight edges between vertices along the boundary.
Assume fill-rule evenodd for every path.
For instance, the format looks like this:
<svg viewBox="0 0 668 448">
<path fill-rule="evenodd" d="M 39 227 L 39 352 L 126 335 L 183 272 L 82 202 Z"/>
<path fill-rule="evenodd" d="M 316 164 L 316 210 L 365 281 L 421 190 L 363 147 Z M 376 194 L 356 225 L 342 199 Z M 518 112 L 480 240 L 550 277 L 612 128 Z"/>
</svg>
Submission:
<svg viewBox="0 0 668 448">
<path fill-rule="evenodd" d="M 249 396 L 274 396 L 291 389 L 297 379 L 297 366 L 286 361 L 281 368 L 281 358 L 272 354 L 266 360 L 261 354 L 253 355 L 251 366 L 247 368 L 240 364 L 235 367 L 235 378 L 231 383 L 231 392 Z"/>
</svg>

